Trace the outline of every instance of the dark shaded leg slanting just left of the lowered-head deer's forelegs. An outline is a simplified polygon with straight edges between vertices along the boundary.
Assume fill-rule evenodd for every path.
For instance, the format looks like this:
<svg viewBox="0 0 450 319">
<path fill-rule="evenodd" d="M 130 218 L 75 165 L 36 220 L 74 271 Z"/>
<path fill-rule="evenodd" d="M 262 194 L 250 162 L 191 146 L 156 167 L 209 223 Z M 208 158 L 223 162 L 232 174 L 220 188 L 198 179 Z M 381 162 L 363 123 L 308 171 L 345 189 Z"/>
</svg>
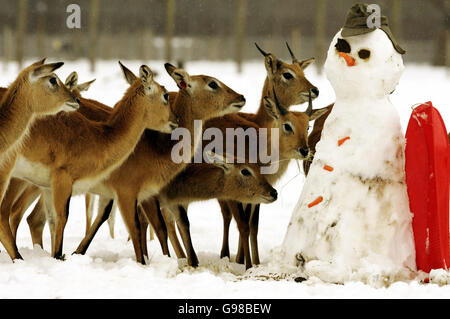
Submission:
<svg viewBox="0 0 450 319">
<path fill-rule="evenodd" d="M 152 197 L 141 202 L 141 209 L 142 213 L 147 218 L 147 221 L 155 230 L 156 237 L 158 237 L 163 255 L 170 256 L 169 245 L 167 242 L 166 223 L 164 222 L 163 216 L 161 214 L 158 200 Z"/>
</svg>

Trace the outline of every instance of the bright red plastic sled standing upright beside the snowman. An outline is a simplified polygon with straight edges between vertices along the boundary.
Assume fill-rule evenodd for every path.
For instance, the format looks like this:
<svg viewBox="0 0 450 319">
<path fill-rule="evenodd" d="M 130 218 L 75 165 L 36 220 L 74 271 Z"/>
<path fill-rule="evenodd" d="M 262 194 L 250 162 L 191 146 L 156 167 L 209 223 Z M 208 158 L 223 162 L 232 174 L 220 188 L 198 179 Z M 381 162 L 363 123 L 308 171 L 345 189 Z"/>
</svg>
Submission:
<svg viewBox="0 0 450 319">
<path fill-rule="evenodd" d="M 417 269 L 447 269 L 449 256 L 449 140 L 431 102 L 415 109 L 406 131 L 405 169 Z"/>
</svg>

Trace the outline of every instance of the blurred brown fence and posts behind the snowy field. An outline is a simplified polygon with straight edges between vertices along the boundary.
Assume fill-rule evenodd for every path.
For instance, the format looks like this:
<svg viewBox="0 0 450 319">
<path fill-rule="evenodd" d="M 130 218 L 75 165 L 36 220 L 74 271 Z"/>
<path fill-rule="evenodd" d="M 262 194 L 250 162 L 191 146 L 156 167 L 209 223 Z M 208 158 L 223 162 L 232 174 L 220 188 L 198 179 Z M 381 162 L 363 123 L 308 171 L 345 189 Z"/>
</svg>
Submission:
<svg viewBox="0 0 450 319">
<path fill-rule="evenodd" d="M 253 42 L 287 58 L 323 62 L 353 0 L 0 0 L 5 62 L 48 56 L 98 59 L 244 60 Z M 405 61 L 450 66 L 450 0 L 379 0 Z M 81 28 L 69 28 L 69 4 Z"/>
</svg>

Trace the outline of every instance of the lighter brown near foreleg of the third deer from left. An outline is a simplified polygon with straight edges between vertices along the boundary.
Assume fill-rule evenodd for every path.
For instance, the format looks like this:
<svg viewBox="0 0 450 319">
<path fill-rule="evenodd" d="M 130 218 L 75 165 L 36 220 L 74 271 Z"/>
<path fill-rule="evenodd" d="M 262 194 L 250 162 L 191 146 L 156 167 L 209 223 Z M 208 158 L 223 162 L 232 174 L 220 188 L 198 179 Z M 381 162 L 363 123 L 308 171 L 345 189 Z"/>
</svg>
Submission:
<svg viewBox="0 0 450 319">
<path fill-rule="evenodd" d="M 133 242 L 136 261 L 145 265 L 144 254 L 141 246 L 141 229 L 137 211 L 137 199 L 133 196 L 117 193 L 117 204 L 120 213 L 128 229 L 128 234 Z"/>
</svg>

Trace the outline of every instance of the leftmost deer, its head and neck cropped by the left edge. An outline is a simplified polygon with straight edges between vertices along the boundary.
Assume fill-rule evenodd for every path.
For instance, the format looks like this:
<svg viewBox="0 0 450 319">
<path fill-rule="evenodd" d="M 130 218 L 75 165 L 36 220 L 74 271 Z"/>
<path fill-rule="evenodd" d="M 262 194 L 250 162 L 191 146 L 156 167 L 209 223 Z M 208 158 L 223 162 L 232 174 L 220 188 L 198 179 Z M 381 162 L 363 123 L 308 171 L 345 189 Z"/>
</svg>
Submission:
<svg viewBox="0 0 450 319">
<path fill-rule="evenodd" d="M 17 152 L 27 140 L 30 126 L 44 116 L 61 110 L 74 111 L 79 106 L 78 98 L 53 73 L 63 64 L 45 64 L 45 59 L 33 63 L 22 70 L 7 89 L 0 91 L 0 203 L 9 184 Z M 6 223 L 5 219 L 0 221 L 0 238 L 9 232 L 9 227 L 1 227 Z"/>
</svg>

